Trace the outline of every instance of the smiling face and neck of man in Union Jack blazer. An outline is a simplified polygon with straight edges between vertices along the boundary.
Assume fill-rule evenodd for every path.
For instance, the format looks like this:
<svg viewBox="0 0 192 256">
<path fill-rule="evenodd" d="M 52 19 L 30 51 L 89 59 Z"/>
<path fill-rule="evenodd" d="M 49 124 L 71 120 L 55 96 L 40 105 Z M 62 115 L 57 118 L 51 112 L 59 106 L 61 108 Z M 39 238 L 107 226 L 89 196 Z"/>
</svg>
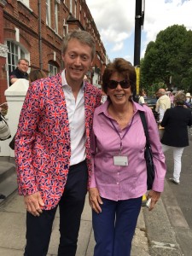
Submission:
<svg viewBox="0 0 192 256">
<path fill-rule="evenodd" d="M 84 74 L 92 65 L 91 48 L 89 45 L 82 44 L 78 39 L 73 38 L 68 42 L 62 60 L 65 63 L 67 83 L 72 86 L 74 82 L 81 84 Z"/>
</svg>

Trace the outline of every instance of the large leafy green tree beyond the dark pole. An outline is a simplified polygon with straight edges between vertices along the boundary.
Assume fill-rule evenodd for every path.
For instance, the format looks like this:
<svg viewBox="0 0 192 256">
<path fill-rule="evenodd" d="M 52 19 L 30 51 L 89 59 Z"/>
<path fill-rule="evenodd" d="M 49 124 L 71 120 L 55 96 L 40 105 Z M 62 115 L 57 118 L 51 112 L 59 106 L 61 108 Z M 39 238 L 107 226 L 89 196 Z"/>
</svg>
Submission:
<svg viewBox="0 0 192 256">
<path fill-rule="evenodd" d="M 140 86 L 150 95 L 160 87 L 192 93 L 192 32 L 178 25 L 159 32 L 141 60 L 140 80 Z"/>
</svg>

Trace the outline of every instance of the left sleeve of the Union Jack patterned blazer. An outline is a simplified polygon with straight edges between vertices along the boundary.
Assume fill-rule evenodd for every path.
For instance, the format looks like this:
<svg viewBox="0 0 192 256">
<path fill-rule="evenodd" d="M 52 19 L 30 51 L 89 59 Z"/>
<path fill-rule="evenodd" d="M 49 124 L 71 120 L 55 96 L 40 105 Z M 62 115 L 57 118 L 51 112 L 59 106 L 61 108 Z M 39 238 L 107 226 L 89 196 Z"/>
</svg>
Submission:
<svg viewBox="0 0 192 256">
<path fill-rule="evenodd" d="M 31 84 L 20 112 L 20 120 L 15 135 L 15 162 L 20 195 L 38 192 L 34 169 L 32 167 L 32 143 L 35 140 L 40 106 L 41 87 Z"/>
</svg>

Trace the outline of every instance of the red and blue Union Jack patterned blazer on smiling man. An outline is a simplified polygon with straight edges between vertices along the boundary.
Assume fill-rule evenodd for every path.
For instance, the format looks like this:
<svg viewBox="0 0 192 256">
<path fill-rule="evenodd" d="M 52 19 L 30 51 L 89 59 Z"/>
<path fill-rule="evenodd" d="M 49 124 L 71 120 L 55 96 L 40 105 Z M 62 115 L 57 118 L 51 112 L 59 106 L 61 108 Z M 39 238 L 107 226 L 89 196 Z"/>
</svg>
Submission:
<svg viewBox="0 0 192 256">
<path fill-rule="evenodd" d="M 93 113 L 101 102 L 101 90 L 84 86 L 86 160 L 91 174 L 90 131 Z M 20 195 L 40 192 L 44 209 L 61 199 L 71 156 L 67 105 L 61 73 L 32 83 L 20 112 L 15 137 L 15 161 Z"/>
</svg>

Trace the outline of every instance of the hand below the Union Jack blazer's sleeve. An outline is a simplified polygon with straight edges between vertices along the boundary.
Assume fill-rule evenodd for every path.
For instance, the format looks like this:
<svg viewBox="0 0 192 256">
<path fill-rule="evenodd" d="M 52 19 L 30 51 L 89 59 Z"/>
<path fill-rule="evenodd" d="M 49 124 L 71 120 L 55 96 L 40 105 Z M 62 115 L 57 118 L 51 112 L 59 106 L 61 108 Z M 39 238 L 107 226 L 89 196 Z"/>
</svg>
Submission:
<svg viewBox="0 0 192 256">
<path fill-rule="evenodd" d="M 32 213 L 33 216 L 39 216 L 42 213 L 42 208 L 44 207 L 44 201 L 41 198 L 39 192 L 32 195 L 25 195 L 24 202 L 26 205 L 26 211 Z"/>
</svg>

